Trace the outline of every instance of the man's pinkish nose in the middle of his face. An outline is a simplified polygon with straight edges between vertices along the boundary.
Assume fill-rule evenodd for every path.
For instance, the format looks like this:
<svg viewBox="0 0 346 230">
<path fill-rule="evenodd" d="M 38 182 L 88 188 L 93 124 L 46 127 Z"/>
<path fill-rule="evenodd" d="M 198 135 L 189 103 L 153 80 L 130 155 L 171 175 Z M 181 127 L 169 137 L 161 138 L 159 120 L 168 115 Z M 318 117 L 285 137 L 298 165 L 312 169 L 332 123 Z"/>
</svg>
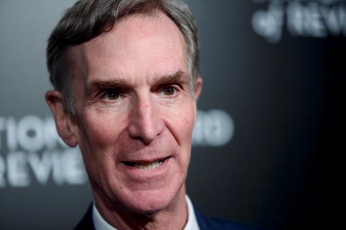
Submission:
<svg viewBox="0 0 346 230">
<path fill-rule="evenodd" d="M 150 98 L 138 99 L 130 115 L 129 136 L 149 144 L 164 131 L 159 109 Z"/>
</svg>

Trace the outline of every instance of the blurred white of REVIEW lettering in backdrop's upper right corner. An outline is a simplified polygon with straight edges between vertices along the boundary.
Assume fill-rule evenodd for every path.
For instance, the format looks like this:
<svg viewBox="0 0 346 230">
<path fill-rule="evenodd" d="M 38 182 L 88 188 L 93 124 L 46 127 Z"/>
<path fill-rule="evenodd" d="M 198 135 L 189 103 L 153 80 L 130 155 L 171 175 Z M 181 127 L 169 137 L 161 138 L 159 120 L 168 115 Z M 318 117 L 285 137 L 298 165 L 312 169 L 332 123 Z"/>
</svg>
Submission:
<svg viewBox="0 0 346 230">
<path fill-rule="evenodd" d="M 281 40 L 284 25 L 291 36 L 346 37 L 346 0 L 253 0 L 266 3 L 252 17 L 254 31 L 270 43 Z"/>
</svg>

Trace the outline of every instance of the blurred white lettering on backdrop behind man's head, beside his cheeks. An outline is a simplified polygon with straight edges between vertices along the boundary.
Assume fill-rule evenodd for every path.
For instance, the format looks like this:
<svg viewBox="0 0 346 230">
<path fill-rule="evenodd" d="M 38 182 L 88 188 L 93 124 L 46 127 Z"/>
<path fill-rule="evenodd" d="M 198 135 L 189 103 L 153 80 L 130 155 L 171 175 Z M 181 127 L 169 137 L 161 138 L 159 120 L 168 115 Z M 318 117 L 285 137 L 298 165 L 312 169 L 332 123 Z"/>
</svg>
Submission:
<svg viewBox="0 0 346 230">
<path fill-rule="evenodd" d="M 233 137 L 234 123 L 221 110 L 198 111 L 192 146 L 219 147 Z M 61 140 L 52 116 L 27 115 L 19 120 L 0 116 L 0 188 L 41 184 L 82 185 L 87 173 L 79 148 Z"/>
</svg>

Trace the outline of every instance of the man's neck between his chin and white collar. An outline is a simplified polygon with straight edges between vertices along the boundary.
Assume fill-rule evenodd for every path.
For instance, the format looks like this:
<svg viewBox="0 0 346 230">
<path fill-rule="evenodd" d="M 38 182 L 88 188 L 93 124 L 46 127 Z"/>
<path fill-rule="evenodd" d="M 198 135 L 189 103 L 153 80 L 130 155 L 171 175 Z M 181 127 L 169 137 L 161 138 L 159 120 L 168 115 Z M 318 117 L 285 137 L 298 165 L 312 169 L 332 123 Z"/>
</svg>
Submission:
<svg viewBox="0 0 346 230">
<path fill-rule="evenodd" d="M 182 230 L 187 222 L 185 184 L 171 203 L 154 213 L 137 213 L 117 205 L 109 207 L 96 192 L 94 199 L 102 218 L 118 230 Z"/>
</svg>

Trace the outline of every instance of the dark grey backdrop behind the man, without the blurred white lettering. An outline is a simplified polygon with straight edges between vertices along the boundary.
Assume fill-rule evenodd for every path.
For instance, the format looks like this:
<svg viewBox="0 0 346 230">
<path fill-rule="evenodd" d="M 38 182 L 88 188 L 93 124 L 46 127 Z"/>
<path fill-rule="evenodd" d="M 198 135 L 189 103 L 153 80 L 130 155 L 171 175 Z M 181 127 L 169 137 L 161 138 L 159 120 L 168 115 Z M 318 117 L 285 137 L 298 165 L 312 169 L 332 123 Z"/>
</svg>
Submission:
<svg viewBox="0 0 346 230">
<path fill-rule="evenodd" d="M 14 150 L 7 140 L 9 122 L 19 126 L 27 115 L 42 120 L 51 115 L 44 102 L 51 88 L 46 39 L 73 2 L 0 0 L 0 229 L 72 229 L 92 199 L 87 182 L 59 185 L 49 174 L 40 184 L 30 167 L 30 184 L 16 187 L 8 179 L 8 155 Z M 339 7 L 340 20 L 333 24 L 333 15 L 320 15 L 318 27 L 304 14 L 302 33 L 287 29 L 289 1 L 186 2 L 201 41 L 199 110 L 222 110 L 235 127 L 226 145 L 192 149 L 186 181 L 191 200 L 205 214 L 259 227 L 345 227 L 346 38 L 333 27 L 346 28 L 345 2 L 304 1 L 315 17 L 313 7 L 327 16 L 333 11 L 325 9 Z M 269 9 L 274 21 L 255 18 Z M 282 35 L 270 38 L 280 28 Z M 43 150 L 37 154 L 43 156 Z"/>
</svg>

